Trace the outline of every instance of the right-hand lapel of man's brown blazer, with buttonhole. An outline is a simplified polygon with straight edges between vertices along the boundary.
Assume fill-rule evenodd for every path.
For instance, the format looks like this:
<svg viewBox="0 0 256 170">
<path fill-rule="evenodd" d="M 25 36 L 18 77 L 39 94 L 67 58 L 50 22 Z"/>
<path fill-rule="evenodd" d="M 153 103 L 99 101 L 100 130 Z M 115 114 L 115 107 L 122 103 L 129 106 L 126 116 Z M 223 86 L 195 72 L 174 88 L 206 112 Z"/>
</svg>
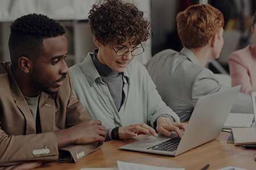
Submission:
<svg viewBox="0 0 256 170">
<path fill-rule="evenodd" d="M 38 111 L 40 115 L 42 133 L 55 130 L 55 100 L 49 99 L 48 94 L 42 92 L 39 98 Z"/>
</svg>

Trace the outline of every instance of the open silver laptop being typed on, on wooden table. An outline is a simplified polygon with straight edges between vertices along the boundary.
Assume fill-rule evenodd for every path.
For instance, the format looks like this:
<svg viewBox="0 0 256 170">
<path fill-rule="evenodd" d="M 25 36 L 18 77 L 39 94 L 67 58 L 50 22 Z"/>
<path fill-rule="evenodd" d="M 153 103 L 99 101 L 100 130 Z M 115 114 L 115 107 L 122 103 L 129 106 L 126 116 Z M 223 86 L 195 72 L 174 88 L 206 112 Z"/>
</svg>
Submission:
<svg viewBox="0 0 256 170">
<path fill-rule="evenodd" d="M 184 131 L 182 139 L 180 139 L 175 132 L 172 132 L 171 137 L 166 137 L 163 134 L 159 134 L 158 137 L 151 135 L 150 137 L 119 148 L 176 156 L 212 141 L 220 135 L 221 129 L 236 100 L 240 88 L 241 86 L 236 86 L 200 97 L 189 119 L 187 129 Z M 172 143 L 175 141 L 180 142 L 177 144 L 176 148 L 172 148 L 168 146 L 170 145 L 169 140 L 172 141 Z M 167 149 L 168 151 L 166 151 L 166 147 L 170 147 L 171 150 Z"/>
</svg>

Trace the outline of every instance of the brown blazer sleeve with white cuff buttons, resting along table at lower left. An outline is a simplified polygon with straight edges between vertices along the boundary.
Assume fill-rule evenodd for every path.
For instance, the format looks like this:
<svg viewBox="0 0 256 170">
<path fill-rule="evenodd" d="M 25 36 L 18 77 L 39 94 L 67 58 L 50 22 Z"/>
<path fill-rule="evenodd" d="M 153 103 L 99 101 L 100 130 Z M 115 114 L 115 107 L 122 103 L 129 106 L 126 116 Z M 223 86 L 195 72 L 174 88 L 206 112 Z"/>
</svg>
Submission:
<svg viewBox="0 0 256 170">
<path fill-rule="evenodd" d="M 45 160 L 58 160 L 58 148 L 53 132 L 30 135 L 0 135 L 0 163 L 3 166 Z M 40 154 L 39 154 L 40 153 Z"/>
</svg>

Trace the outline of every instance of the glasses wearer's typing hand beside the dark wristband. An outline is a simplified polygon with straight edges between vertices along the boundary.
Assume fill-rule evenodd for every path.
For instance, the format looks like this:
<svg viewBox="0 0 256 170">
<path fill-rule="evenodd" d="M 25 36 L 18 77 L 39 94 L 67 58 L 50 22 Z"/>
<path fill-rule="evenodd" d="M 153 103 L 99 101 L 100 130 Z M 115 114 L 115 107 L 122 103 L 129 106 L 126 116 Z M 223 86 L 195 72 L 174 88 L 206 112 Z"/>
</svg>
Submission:
<svg viewBox="0 0 256 170">
<path fill-rule="evenodd" d="M 111 134 L 111 131 L 109 132 L 110 134 Z M 155 130 L 144 123 L 120 127 L 118 129 L 118 133 L 119 133 L 119 138 L 121 140 L 125 140 L 130 137 L 137 137 L 137 135 L 139 135 L 139 134 L 151 133 L 152 135 L 154 135 L 154 137 L 157 136 Z"/>
</svg>

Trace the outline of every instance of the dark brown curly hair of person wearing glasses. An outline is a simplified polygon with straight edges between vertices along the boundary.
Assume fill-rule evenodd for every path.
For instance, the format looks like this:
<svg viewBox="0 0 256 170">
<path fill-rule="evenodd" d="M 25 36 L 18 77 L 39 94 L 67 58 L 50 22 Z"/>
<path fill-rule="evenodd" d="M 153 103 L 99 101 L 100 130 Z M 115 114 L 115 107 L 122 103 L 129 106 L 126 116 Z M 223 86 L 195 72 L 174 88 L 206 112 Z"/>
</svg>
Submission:
<svg viewBox="0 0 256 170">
<path fill-rule="evenodd" d="M 101 44 L 117 40 L 122 44 L 129 39 L 138 45 L 150 38 L 152 24 L 143 18 L 143 11 L 129 2 L 105 0 L 94 4 L 89 12 L 89 25 L 93 36 Z"/>
</svg>

